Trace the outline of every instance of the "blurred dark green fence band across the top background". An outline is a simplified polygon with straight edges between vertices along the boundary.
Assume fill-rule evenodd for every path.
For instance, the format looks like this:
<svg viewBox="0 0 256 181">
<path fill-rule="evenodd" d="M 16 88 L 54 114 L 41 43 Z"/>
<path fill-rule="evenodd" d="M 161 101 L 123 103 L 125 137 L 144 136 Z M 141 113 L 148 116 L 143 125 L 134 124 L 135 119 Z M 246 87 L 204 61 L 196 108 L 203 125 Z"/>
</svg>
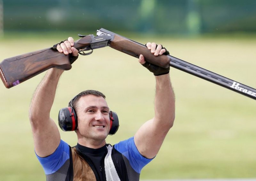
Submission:
<svg viewBox="0 0 256 181">
<path fill-rule="evenodd" d="M 3 0 L 4 31 L 256 31 L 255 0 Z"/>
</svg>

